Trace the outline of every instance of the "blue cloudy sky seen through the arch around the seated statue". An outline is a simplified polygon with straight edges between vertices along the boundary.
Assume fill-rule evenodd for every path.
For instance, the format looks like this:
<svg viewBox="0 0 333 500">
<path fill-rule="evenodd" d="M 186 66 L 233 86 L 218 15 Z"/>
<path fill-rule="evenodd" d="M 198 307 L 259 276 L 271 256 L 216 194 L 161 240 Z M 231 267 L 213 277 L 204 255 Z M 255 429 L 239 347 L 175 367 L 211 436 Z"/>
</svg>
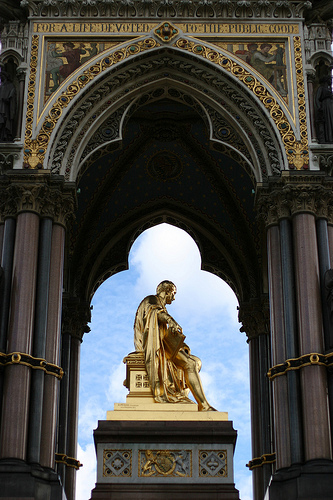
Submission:
<svg viewBox="0 0 333 500">
<path fill-rule="evenodd" d="M 96 482 L 93 429 L 114 403 L 124 403 L 123 358 L 134 351 L 133 322 L 140 301 L 164 279 L 177 285 L 169 313 L 182 326 L 191 352 L 202 360 L 209 403 L 227 411 L 238 431 L 235 483 L 252 500 L 249 368 L 246 336 L 239 332 L 237 299 L 220 278 L 201 271 L 199 250 L 184 231 L 162 224 L 133 244 L 129 270 L 108 279 L 93 297 L 91 332 L 81 350 L 79 446 L 76 500 L 88 500 Z"/>
</svg>

